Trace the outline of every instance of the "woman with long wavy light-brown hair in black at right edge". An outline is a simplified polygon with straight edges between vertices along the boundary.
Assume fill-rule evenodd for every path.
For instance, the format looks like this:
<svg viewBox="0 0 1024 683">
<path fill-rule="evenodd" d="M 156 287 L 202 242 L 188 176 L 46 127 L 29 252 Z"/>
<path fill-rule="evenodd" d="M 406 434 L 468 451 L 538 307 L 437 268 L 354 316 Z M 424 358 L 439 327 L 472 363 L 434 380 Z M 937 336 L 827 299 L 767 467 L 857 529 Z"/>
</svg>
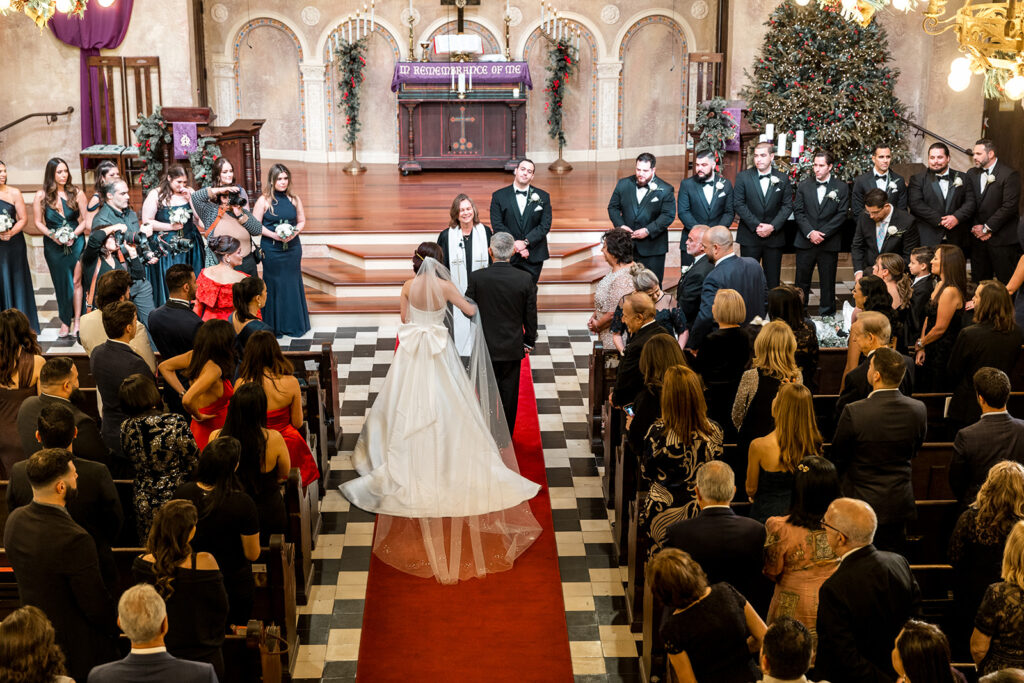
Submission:
<svg viewBox="0 0 1024 683">
<path fill-rule="evenodd" d="M 999 581 L 1002 549 L 1014 524 L 1024 519 L 1024 466 L 996 464 L 977 499 L 956 520 L 949 539 L 953 565 L 953 616 L 949 634 L 967 644 L 978 606 L 990 584 Z"/>
</svg>

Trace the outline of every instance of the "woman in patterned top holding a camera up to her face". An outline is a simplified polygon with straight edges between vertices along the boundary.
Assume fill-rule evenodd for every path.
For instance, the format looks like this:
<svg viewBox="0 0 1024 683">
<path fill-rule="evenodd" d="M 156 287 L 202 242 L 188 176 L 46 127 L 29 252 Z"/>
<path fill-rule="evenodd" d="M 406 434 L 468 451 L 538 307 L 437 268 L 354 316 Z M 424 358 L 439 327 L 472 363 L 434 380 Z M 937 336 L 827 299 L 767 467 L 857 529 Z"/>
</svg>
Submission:
<svg viewBox="0 0 1024 683">
<path fill-rule="evenodd" d="M 193 209 L 205 226 L 203 234 L 209 244 L 214 237 L 231 237 L 242 246 L 242 264 L 237 266 L 247 275 L 256 276 L 256 256 L 259 251 L 253 238 L 263 232 L 263 224 L 246 208 L 249 197 L 242 187 L 231 184 L 234 171 L 231 164 L 221 157 L 213 167 L 214 177 L 221 183 L 216 187 L 204 187 L 193 194 Z M 218 259 L 207 249 L 206 265 L 216 265 Z"/>
</svg>

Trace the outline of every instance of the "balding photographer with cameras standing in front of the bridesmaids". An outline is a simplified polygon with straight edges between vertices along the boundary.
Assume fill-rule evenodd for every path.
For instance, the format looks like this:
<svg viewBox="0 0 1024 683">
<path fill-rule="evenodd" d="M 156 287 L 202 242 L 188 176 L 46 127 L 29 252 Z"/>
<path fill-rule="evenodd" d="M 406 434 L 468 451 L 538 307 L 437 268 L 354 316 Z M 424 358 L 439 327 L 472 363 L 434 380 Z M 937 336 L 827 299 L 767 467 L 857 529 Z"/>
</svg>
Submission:
<svg viewBox="0 0 1024 683">
<path fill-rule="evenodd" d="M 153 305 L 153 286 L 145 279 L 145 264 L 157 263 L 160 254 L 153 248 L 153 227 L 139 225 L 138 216 L 128 206 L 128 184 L 115 180 L 103 188 L 105 201 L 92 219 L 92 233 L 82 251 L 82 285 L 85 303 L 92 310 L 95 283 L 110 270 L 127 270 L 131 275 L 131 300 L 138 322 L 145 326 Z"/>
</svg>

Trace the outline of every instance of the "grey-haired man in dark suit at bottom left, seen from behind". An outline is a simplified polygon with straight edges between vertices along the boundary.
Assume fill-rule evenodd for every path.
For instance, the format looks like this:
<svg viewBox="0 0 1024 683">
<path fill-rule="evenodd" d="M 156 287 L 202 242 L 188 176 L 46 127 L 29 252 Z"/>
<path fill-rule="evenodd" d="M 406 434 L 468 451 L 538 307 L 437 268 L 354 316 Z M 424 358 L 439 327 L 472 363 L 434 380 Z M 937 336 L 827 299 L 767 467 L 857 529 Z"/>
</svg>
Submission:
<svg viewBox="0 0 1024 683">
<path fill-rule="evenodd" d="M 148 584 L 133 586 L 118 601 L 118 626 L 131 640 L 124 659 L 96 667 L 87 683 L 217 683 L 213 665 L 177 659 L 167 652 L 167 605 Z"/>
</svg>

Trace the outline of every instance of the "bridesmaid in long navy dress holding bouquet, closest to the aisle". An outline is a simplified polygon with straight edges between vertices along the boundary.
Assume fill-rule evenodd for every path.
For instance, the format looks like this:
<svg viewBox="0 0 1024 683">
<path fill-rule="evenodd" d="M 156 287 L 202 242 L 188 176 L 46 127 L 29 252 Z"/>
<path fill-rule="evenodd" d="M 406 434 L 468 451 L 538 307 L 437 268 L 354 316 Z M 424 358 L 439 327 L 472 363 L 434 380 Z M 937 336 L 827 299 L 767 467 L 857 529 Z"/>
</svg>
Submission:
<svg viewBox="0 0 1024 683">
<path fill-rule="evenodd" d="M 263 223 L 263 280 L 267 300 L 263 321 L 278 337 L 301 337 L 309 332 L 309 310 L 302 284 L 302 242 L 306 226 L 302 200 L 292 193 L 292 174 L 274 164 L 253 216 Z"/>
</svg>

